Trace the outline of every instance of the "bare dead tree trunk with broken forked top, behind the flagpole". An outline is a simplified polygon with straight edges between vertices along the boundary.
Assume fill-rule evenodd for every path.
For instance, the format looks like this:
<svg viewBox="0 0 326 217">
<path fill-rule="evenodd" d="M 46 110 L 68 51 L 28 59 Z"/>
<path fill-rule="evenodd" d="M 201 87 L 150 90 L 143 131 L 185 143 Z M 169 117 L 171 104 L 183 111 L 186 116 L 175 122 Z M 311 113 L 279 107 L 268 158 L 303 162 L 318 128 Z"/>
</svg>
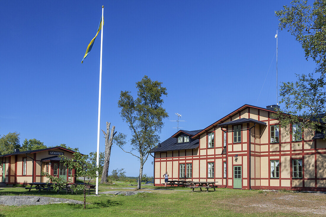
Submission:
<svg viewBox="0 0 326 217">
<path fill-rule="evenodd" d="M 115 126 L 112 126 L 111 134 L 110 134 L 110 125 L 111 123 L 106 122 L 106 133 L 102 130 L 103 134 L 105 135 L 105 153 L 104 153 L 103 172 L 101 177 L 102 184 L 105 183 L 108 179 L 111 148 L 113 144 L 113 137 L 116 134 L 116 132 L 114 132 Z"/>
</svg>

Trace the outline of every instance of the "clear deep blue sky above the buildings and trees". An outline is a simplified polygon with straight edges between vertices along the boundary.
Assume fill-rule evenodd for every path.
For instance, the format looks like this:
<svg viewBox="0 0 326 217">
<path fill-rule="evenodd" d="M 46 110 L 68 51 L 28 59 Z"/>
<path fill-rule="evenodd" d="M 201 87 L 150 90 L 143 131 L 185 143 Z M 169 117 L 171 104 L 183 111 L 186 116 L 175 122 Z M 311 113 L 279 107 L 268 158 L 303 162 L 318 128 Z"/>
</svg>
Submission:
<svg viewBox="0 0 326 217">
<path fill-rule="evenodd" d="M 148 75 L 168 90 L 161 140 L 206 127 L 243 104 L 276 103 L 278 20 L 290 1 L 5 1 L 0 13 L 0 134 L 17 131 L 46 145 L 66 143 L 96 151 L 100 37 L 104 5 L 101 129 L 105 122 L 130 135 L 119 114 L 121 90 L 136 94 Z M 278 34 L 278 80 L 311 72 L 300 44 Z M 130 138 L 130 137 L 129 137 Z M 104 150 L 101 137 L 100 150 Z M 149 157 L 144 173 L 153 175 Z M 112 147 L 110 168 L 139 174 L 134 156 Z"/>
</svg>

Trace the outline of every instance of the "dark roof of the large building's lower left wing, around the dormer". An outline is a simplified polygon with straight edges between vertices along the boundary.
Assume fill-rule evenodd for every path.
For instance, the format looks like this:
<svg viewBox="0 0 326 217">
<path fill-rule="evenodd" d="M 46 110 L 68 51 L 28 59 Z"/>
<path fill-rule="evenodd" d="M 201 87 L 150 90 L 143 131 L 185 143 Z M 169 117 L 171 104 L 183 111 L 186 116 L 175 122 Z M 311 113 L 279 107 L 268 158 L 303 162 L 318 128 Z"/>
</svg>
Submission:
<svg viewBox="0 0 326 217">
<path fill-rule="evenodd" d="M 181 130 L 180 130 L 181 131 Z M 186 131 L 182 130 L 184 133 L 189 132 L 190 135 L 195 135 L 201 130 Z M 179 132 L 179 131 L 178 131 Z M 175 134 L 174 134 L 175 135 Z M 151 152 L 163 152 L 163 151 L 174 151 L 174 150 L 185 150 L 185 149 L 196 149 L 199 147 L 199 139 L 195 139 L 190 143 L 178 143 L 177 138 L 170 137 L 165 141 L 160 143 L 159 147 L 153 148 Z"/>
</svg>

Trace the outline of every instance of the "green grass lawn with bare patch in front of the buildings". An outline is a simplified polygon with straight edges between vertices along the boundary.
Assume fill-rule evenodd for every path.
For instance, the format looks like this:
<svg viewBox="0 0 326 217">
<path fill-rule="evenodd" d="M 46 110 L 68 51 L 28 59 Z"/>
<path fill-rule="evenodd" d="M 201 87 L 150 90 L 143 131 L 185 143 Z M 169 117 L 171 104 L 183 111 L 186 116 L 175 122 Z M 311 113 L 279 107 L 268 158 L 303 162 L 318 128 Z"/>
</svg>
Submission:
<svg viewBox="0 0 326 217">
<path fill-rule="evenodd" d="M 99 191 L 131 191 L 126 183 L 100 185 Z M 82 205 L 50 204 L 37 206 L 2 206 L 0 216 L 326 216 L 325 194 L 265 192 L 219 188 L 216 192 L 193 192 L 184 187 L 142 186 L 154 192 L 133 196 L 87 196 L 87 209 Z M 114 188 L 114 189 L 110 189 Z M 146 189 L 144 189 L 146 190 Z M 3 188 L 0 195 L 51 196 L 83 201 L 78 195 L 59 194 L 24 188 Z"/>
</svg>

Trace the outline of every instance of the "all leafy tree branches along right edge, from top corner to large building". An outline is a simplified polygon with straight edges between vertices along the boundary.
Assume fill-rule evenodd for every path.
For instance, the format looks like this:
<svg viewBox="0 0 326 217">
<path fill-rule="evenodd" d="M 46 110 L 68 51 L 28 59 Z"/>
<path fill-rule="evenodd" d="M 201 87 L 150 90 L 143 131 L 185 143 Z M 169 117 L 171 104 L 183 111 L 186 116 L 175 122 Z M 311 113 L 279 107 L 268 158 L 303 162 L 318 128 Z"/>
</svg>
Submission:
<svg viewBox="0 0 326 217">
<path fill-rule="evenodd" d="M 280 30 L 286 29 L 302 45 L 305 57 L 316 62 L 315 72 L 296 75 L 296 82 L 283 82 L 280 87 L 281 105 L 275 118 L 289 134 L 290 124 L 299 124 L 305 134 L 325 132 L 321 122 L 326 122 L 325 72 L 326 72 L 326 0 L 315 0 L 313 6 L 306 0 L 294 0 L 290 6 L 275 11 Z M 287 115 L 284 115 L 287 113 Z M 304 129 L 310 129 L 305 130 Z M 300 131 L 294 132 L 297 137 Z"/>
</svg>

